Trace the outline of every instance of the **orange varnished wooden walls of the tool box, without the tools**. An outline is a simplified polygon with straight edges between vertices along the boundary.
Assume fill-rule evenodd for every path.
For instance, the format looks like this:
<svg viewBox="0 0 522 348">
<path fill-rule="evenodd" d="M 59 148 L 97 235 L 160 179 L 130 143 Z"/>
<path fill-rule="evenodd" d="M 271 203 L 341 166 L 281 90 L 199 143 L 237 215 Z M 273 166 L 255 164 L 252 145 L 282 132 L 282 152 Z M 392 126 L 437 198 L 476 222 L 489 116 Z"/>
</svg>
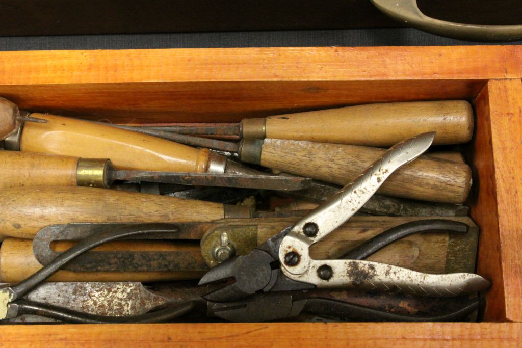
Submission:
<svg viewBox="0 0 522 348">
<path fill-rule="evenodd" d="M 343 105 L 467 99 L 481 323 L 2 326 L 0 345 L 496 346 L 522 344 L 522 47 L 313 47 L 0 53 L 0 95 L 114 123 L 235 122 Z M 347 129 L 346 131 L 357 131 Z M 110 305 L 110 304 L 109 304 Z"/>
</svg>

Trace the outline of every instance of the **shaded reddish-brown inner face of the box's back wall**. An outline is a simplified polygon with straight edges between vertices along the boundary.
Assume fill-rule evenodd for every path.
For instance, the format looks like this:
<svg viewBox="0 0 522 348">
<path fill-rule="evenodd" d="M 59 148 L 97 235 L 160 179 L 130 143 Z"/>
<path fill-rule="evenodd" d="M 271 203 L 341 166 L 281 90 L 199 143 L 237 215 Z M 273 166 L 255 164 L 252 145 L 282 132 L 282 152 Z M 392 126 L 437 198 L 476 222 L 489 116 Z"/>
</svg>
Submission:
<svg viewBox="0 0 522 348">
<path fill-rule="evenodd" d="M 22 110 L 111 123 L 239 122 L 244 117 L 353 104 L 471 100 L 485 82 L 483 79 L 234 80 L 7 86 L 0 80 L 0 97 L 13 101 Z"/>
</svg>

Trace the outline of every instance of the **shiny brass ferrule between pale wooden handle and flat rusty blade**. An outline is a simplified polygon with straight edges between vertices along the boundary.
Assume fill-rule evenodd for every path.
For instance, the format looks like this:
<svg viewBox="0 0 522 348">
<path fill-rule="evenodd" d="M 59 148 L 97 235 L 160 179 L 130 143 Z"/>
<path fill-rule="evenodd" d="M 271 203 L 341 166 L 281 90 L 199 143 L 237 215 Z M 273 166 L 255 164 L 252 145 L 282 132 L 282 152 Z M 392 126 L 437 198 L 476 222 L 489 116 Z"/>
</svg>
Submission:
<svg viewBox="0 0 522 348">
<path fill-rule="evenodd" d="M 78 186 L 109 188 L 108 173 L 112 169 L 109 159 L 80 158 L 76 167 Z"/>
</svg>

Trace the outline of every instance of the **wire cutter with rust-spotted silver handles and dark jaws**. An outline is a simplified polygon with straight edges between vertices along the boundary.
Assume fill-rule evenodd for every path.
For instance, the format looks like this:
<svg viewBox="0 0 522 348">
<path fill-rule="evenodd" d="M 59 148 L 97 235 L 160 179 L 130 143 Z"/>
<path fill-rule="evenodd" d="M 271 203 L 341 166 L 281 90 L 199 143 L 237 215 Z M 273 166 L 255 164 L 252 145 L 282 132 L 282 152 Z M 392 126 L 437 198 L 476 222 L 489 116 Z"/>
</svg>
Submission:
<svg viewBox="0 0 522 348">
<path fill-rule="evenodd" d="M 400 166 L 426 151 L 435 132 L 399 142 L 321 206 L 249 254 L 208 271 L 199 284 L 234 279 L 206 294 L 208 301 L 237 301 L 259 293 L 352 288 L 422 296 L 458 296 L 486 289 L 477 274 L 428 274 L 365 260 L 314 260 L 309 247 L 346 222 Z"/>
</svg>

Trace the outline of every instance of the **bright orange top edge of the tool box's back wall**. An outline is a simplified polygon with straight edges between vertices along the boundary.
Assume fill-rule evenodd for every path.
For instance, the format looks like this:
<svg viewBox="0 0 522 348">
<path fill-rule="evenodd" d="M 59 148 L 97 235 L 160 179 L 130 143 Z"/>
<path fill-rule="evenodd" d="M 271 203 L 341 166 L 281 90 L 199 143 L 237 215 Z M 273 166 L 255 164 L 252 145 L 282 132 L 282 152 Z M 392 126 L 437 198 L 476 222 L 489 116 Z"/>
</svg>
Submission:
<svg viewBox="0 0 522 348">
<path fill-rule="evenodd" d="M 0 53 L 2 85 L 515 78 L 520 46 L 272 47 Z"/>
</svg>

